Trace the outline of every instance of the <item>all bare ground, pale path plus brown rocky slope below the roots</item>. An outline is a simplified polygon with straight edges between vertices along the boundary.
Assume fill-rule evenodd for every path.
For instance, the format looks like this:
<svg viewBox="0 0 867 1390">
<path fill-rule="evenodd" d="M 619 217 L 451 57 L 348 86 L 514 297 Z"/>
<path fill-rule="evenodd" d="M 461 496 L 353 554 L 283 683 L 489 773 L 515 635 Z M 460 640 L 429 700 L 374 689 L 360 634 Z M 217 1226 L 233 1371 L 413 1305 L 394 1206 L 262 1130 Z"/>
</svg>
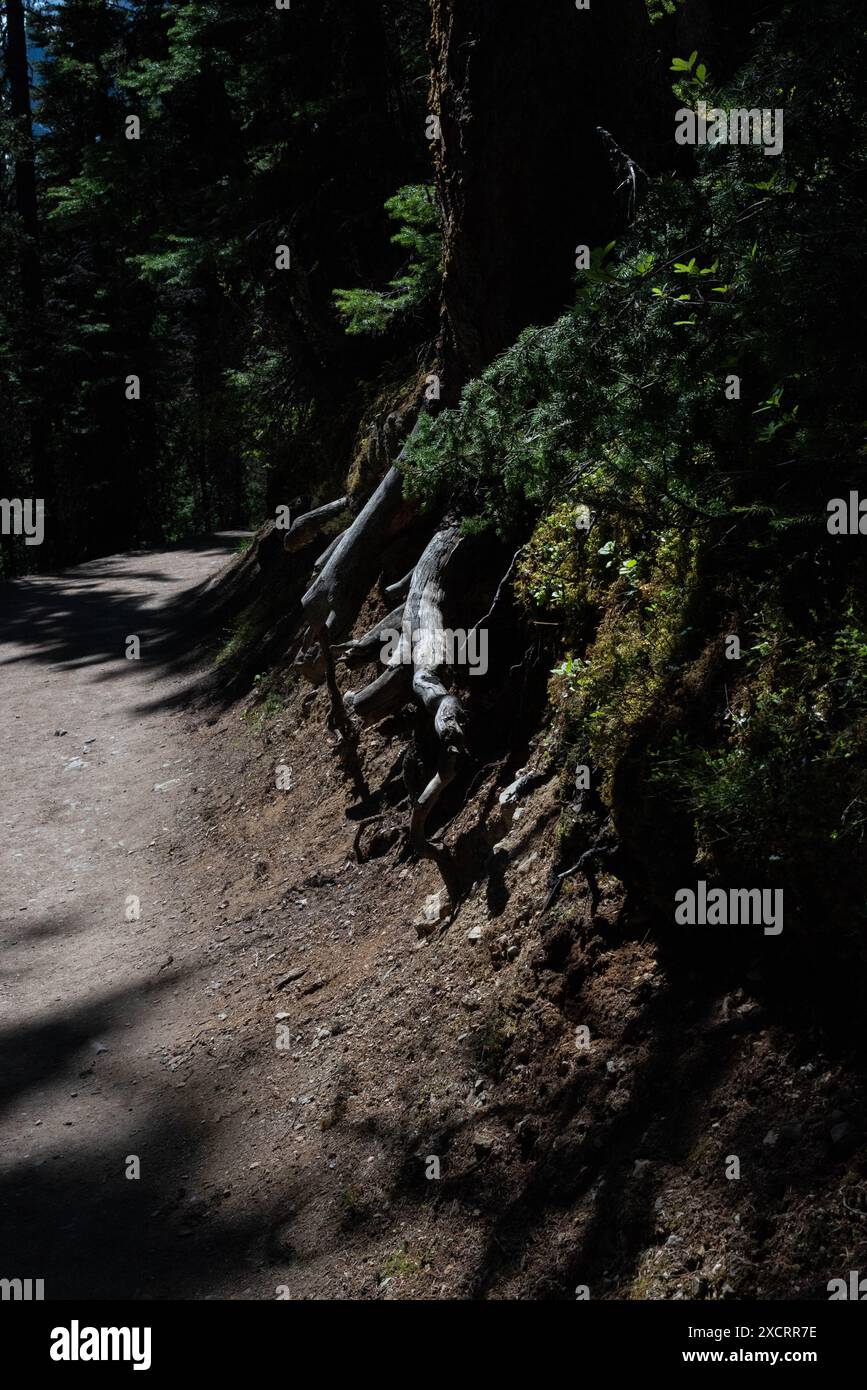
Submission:
<svg viewBox="0 0 867 1390">
<path fill-rule="evenodd" d="M 595 913 L 570 881 L 549 926 L 553 783 L 456 917 L 417 929 L 436 870 L 400 862 L 397 812 L 358 859 L 324 694 L 203 699 L 196 598 L 233 546 L 0 595 L 0 1276 L 47 1298 L 824 1298 L 864 1268 L 846 1041 L 792 1022 L 759 959 L 684 965 L 631 929 L 616 880 Z M 371 785 L 397 752 L 365 735 Z"/>
</svg>

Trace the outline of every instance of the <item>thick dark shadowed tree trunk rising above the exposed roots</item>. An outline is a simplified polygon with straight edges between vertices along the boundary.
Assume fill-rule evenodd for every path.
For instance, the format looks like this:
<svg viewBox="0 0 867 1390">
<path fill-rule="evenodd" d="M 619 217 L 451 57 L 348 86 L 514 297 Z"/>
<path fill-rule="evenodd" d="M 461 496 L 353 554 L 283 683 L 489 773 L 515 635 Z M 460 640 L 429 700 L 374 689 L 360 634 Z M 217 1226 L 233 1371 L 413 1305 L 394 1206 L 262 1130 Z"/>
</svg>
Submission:
<svg viewBox="0 0 867 1390">
<path fill-rule="evenodd" d="M 616 235 L 622 214 L 596 128 L 647 167 L 663 110 L 647 100 L 659 79 L 652 33 L 643 0 L 593 0 L 586 11 L 571 0 L 536 11 L 522 0 L 432 0 L 446 403 L 574 297 L 578 245 Z"/>
</svg>

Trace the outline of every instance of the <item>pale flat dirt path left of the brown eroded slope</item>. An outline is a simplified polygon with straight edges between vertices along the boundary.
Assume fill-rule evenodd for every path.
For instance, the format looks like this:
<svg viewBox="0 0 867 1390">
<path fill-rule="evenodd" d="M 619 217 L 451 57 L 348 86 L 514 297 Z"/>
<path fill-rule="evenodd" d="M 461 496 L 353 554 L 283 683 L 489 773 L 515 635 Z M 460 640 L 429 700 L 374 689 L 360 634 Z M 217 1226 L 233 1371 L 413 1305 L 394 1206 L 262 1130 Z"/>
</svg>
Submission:
<svg viewBox="0 0 867 1390">
<path fill-rule="evenodd" d="M 172 848 L 190 673 L 165 638 L 236 543 L 94 560 L 0 596 L 0 1275 L 46 1277 L 47 1297 L 135 1293 L 156 1138 L 186 1130 L 161 1058 L 188 1009 Z"/>
</svg>

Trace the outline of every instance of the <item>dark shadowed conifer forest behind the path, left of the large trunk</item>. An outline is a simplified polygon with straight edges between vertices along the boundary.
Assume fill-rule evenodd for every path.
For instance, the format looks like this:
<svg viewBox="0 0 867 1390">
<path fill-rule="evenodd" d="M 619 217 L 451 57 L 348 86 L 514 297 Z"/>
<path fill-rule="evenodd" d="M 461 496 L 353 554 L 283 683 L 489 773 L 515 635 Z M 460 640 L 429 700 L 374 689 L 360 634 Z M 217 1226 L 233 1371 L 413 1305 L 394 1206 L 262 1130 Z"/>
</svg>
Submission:
<svg viewBox="0 0 867 1390">
<path fill-rule="evenodd" d="M 258 523 L 335 471 L 335 414 L 395 350 L 347 335 L 332 291 L 388 282 L 385 200 L 431 178 L 427 6 L 25 8 L 35 139 L 15 3 L 0 128 L 4 495 L 46 498 L 43 566 Z"/>
</svg>

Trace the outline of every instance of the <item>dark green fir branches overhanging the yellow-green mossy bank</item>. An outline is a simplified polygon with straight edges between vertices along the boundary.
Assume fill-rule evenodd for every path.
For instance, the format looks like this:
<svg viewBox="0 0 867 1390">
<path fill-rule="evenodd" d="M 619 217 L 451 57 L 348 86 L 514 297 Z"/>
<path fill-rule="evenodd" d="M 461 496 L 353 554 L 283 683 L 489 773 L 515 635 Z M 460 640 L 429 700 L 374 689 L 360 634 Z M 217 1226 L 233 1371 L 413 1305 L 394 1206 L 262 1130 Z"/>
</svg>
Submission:
<svg viewBox="0 0 867 1390">
<path fill-rule="evenodd" d="M 798 57 L 782 25 L 728 95 L 759 104 L 781 83 L 792 93 L 786 120 L 800 138 L 786 142 L 781 185 L 757 196 L 767 160 L 752 146 L 700 150 L 691 182 L 657 179 L 610 274 L 579 275 L 574 310 L 524 332 L 456 410 L 422 423 L 407 449 L 413 495 L 447 495 L 500 532 L 570 486 L 650 531 L 703 518 L 748 532 L 761 512 L 764 543 L 816 509 L 817 450 L 853 470 L 864 368 L 832 324 L 864 284 L 853 250 L 863 196 L 838 177 L 863 161 L 864 113 L 861 67 L 850 51 L 842 61 L 850 44 L 835 22 L 823 18 L 821 43 L 813 35 Z M 735 370 L 742 403 L 724 395 Z"/>
</svg>

